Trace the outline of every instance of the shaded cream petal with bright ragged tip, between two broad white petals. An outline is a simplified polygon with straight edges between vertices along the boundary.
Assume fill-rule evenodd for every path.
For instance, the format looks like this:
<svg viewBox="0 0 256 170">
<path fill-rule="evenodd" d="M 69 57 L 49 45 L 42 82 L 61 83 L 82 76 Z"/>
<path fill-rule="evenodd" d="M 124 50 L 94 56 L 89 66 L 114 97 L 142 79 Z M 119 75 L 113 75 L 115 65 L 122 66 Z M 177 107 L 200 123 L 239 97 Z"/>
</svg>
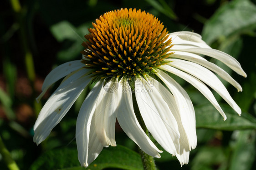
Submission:
<svg viewBox="0 0 256 170">
<path fill-rule="evenodd" d="M 189 141 L 188 141 L 189 136 L 186 135 L 186 132 L 182 125 L 179 109 L 176 105 L 175 99 L 174 99 L 173 95 L 164 87 L 164 85 L 159 83 L 158 81 L 154 81 L 154 87 L 159 89 L 161 96 L 163 97 L 164 101 L 168 104 L 169 109 L 172 111 L 172 113 L 178 123 L 179 134 L 180 134 L 180 137 L 179 137 L 180 149 L 179 149 L 179 154 L 176 154 L 176 156 L 177 156 L 181 166 L 183 164 L 188 164 L 189 163 L 189 151 L 190 151 Z"/>
</svg>

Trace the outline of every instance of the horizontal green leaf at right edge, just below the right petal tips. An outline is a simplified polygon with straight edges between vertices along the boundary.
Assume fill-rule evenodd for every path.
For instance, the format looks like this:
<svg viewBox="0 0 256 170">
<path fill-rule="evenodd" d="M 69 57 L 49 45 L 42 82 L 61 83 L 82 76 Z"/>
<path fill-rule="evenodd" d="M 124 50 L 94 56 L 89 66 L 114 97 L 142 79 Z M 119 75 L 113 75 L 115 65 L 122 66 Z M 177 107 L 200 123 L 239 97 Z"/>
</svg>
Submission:
<svg viewBox="0 0 256 170">
<path fill-rule="evenodd" d="M 227 116 L 227 120 L 212 105 L 195 107 L 196 127 L 218 130 L 256 129 L 256 118 L 246 112 L 239 116 L 231 107 L 220 105 Z"/>
</svg>

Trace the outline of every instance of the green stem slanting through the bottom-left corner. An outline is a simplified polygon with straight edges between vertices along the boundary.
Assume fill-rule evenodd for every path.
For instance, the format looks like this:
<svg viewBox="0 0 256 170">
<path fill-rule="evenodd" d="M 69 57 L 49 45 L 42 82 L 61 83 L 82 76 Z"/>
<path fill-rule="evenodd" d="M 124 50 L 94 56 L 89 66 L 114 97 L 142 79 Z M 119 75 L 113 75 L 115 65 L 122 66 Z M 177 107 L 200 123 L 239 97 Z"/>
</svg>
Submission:
<svg viewBox="0 0 256 170">
<path fill-rule="evenodd" d="M 3 159 L 9 168 L 9 170 L 20 170 L 16 162 L 12 159 L 10 152 L 6 149 L 2 138 L 0 136 L 0 154 L 3 156 Z"/>
</svg>

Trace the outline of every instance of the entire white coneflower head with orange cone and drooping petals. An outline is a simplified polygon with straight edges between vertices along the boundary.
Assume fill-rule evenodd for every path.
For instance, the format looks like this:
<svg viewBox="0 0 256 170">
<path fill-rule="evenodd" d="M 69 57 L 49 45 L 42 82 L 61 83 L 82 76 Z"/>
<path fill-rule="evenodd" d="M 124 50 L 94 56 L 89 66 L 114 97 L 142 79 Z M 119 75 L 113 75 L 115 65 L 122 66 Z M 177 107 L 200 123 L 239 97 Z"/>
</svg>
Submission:
<svg viewBox="0 0 256 170">
<path fill-rule="evenodd" d="M 153 15 L 141 10 L 121 9 L 105 13 L 90 34 L 81 60 L 64 63 L 48 74 L 39 100 L 48 87 L 65 77 L 48 99 L 35 123 L 34 141 L 39 144 L 61 121 L 83 89 L 95 82 L 77 117 L 78 159 L 88 166 L 103 147 L 116 146 L 115 122 L 148 155 L 160 151 L 143 131 L 139 114 L 154 139 L 165 151 L 187 164 L 196 147 L 195 111 L 185 90 L 171 77 L 183 78 L 197 88 L 226 119 L 208 85 L 239 115 L 241 109 L 217 78 L 241 86 L 222 68 L 200 55 L 216 58 L 246 77 L 230 55 L 211 49 L 199 34 L 168 34 Z M 135 112 L 134 112 L 135 111 Z"/>
</svg>

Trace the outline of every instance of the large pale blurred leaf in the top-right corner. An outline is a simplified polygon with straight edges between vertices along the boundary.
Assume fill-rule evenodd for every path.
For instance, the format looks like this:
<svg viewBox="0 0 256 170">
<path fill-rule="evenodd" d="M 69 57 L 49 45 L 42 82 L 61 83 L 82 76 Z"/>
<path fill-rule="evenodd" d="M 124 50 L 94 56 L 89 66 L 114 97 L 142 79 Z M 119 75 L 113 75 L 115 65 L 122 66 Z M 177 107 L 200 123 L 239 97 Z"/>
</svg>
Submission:
<svg viewBox="0 0 256 170">
<path fill-rule="evenodd" d="M 221 6 L 205 23 L 202 37 L 207 44 L 231 34 L 251 33 L 256 28 L 256 6 L 249 0 L 234 0 Z"/>
</svg>

